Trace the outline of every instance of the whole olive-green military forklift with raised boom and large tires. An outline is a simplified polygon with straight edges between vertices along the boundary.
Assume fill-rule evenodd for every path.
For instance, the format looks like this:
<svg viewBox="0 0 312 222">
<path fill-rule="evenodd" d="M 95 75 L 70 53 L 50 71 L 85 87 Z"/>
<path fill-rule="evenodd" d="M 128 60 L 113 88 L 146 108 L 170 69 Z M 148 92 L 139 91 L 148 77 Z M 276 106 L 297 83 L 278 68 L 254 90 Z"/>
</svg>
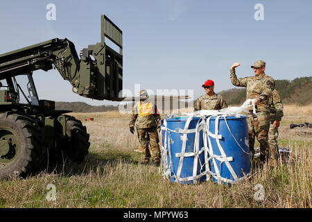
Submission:
<svg viewBox="0 0 312 222">
<path fill-rule="evenodd" d="M 105 40 L 119 47 L 119 52 Z M 118 48 L 117 47 L 117 48 Z M 0 179 L 26 177 L 49 163 L 81 163 L 89 150 L 83 123 L 39 99 L 33 71 L 57 69 L 74 93 L 121 101 L 122 31 L 101 16 L 101 42 L 76 52 L 73 42 L 55 38 L 0 55 Z M 57 88 L 57 87 L 56 87 Z"/>
</svg>

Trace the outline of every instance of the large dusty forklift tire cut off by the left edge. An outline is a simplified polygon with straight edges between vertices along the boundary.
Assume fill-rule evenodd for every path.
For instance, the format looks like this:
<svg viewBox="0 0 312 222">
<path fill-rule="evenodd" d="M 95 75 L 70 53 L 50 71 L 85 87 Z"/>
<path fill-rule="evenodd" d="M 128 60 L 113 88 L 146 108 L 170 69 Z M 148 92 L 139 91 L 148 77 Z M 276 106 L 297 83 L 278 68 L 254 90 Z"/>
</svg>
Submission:
<svg viewBox="0 0 312 222">
<path fill-rule="evenodd" d="M 17 112 L 0 113 L 0 180 L 26 177 L 42 169 L 46 149 L 35 118 Z"/>
</svg>

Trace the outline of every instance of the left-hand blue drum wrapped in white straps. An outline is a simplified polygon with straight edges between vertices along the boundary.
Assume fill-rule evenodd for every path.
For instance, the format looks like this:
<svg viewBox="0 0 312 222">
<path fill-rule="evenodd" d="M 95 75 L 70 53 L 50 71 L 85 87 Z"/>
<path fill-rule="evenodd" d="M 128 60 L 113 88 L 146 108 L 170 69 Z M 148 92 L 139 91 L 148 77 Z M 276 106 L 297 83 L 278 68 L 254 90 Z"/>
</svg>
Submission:
<svg viewBox="0 0 312 222">
<path fill-rule="evenodd" d="M 202 144 L 202 130 L 198 128 L 200 118 L 191 119 L 187 132 L 184 132 L 187 119 L 176 117 L 162 120 L 163 167 L 171 182 L 180 184 L 192 184 L 206 179 L 205 148 Z M 198 139 L 196 130 L 199 132 Z"/>
</svg>

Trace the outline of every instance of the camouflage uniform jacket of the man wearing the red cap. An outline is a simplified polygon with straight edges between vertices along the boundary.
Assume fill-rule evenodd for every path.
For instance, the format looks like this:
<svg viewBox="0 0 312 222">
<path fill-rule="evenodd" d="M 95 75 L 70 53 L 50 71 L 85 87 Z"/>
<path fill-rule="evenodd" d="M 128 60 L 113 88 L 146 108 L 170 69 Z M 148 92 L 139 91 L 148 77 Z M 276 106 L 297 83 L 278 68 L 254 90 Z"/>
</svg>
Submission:
<svg viewBox="0 0 312 222">
<path fill-rule="evenodd" d="M 220 110 L 227 108 L 227 103 L 222 96 L 214 94 L 213 96 L 208 96 L 207 94 L 200 96 L 195 104 L 194 110 Z"/>
</svg>

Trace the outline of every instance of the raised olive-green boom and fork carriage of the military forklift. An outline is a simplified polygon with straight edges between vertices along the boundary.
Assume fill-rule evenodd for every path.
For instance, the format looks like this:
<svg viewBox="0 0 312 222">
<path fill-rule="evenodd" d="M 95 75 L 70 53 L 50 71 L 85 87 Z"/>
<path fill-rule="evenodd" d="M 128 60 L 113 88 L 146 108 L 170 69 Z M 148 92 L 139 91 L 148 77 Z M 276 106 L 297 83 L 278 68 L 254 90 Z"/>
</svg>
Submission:
<svg viewBox="0 0 312 222">
<path fill-rule="evenodd" d="M 119 53 L 105 44 L 107 37 L 119 46 Z M 90 99 L 121 101 L 123 83 L 122 31 L 105 15 L 101 16 L 101 42 L 80 51 L 73 42 L 55 38 L 0 55 L 0 80 L 49 71 L 53 66 L 73 86 L 73 92 Z M 93 58 L 94 59 L 93 59 Z"/>
</svg>

